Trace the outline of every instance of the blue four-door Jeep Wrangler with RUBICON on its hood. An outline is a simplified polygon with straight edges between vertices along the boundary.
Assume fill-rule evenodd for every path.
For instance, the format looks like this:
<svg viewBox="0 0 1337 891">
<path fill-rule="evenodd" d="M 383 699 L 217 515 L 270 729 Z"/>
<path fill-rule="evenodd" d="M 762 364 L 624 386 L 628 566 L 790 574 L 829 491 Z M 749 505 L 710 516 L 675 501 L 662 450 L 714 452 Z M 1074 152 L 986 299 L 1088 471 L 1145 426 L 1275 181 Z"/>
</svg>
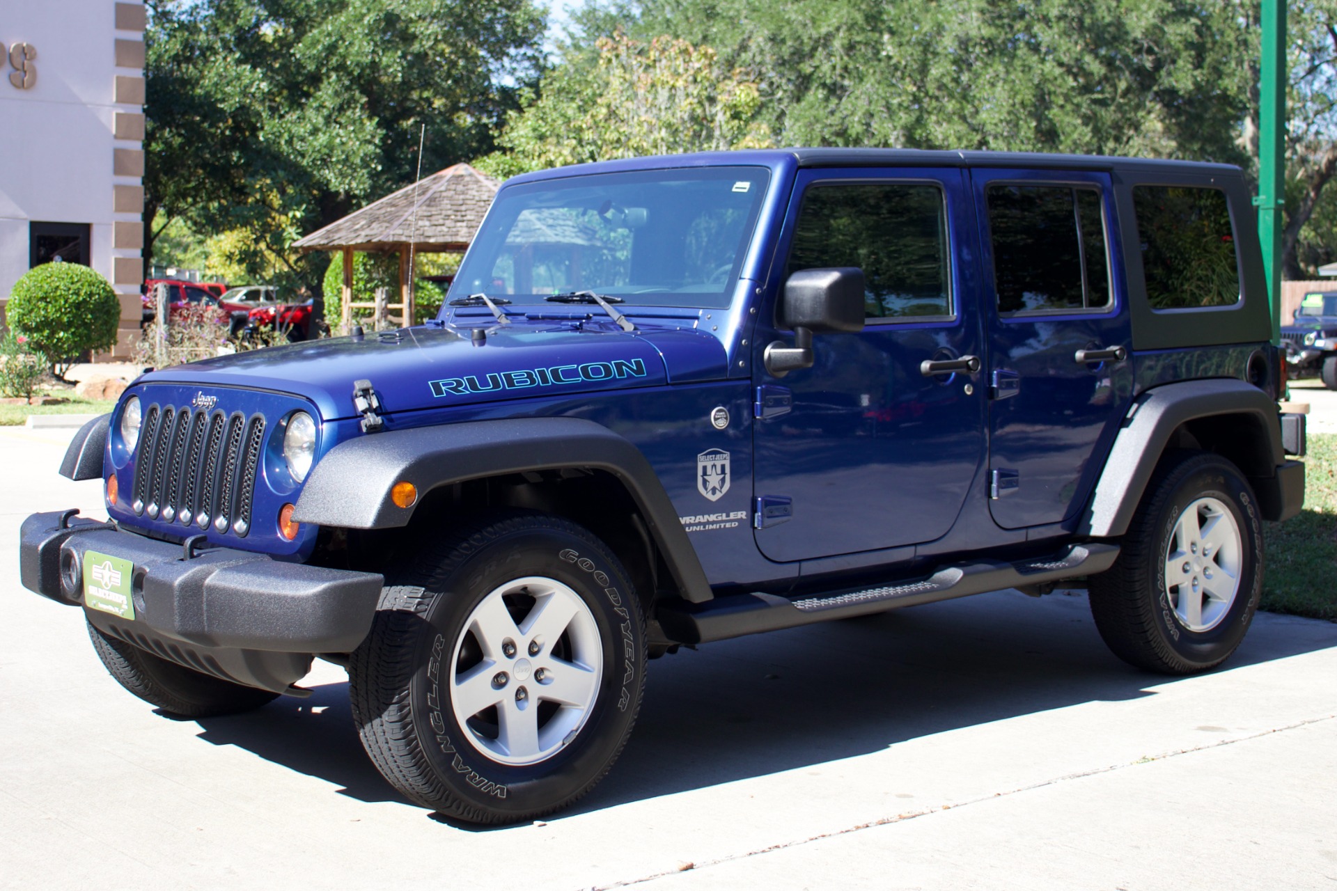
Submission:
<svg viewBox="0 0 1337 891">
<path fill-rule="evenodd" d="M 679 645 L 1062 585 L 1203 671 L 1304 496 L 1251 220 L 1115 158 L 517 176 L 428 325 L 139 378 L 62 468 L 111 521 L 29 517 L 23 584 L 176 715 L 345 665 L 385 779 L 479 823 L 586 793 Z"/>
</svg>

